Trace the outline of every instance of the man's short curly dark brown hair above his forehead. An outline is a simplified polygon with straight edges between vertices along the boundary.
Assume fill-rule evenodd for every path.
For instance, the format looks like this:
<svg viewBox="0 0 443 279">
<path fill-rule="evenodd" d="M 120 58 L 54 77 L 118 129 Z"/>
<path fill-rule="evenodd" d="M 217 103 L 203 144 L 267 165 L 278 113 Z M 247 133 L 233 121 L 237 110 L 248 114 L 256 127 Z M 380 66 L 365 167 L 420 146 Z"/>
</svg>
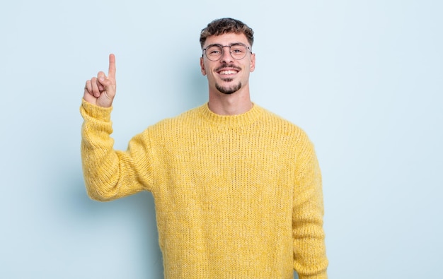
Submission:
<svg viewBox="0 0 443 279">
<path fill-rule="evenodd" d="M 203 48 L 203 45 L 209 36 L 218 36 L 231 32 L 236 34 L 243 33 L 252 47 L 254 42 L 254 31 L 245 23 L 242 23 L 240 20 L 236 20 L 234 18 L 219 18 L 212 20 L 212 22 L 209 23 L 206 28 L 203 28 L 202 32 L 200 32 L 200 46 Z"/>
</svg>

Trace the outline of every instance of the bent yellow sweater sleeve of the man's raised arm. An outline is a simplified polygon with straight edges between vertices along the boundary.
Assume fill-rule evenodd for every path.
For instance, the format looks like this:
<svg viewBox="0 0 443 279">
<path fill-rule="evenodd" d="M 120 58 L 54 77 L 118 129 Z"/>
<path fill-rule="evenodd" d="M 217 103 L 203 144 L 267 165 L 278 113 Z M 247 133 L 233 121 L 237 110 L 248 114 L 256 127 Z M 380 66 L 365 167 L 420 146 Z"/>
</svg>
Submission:
<svg viewBox="0 0 443 279">
<path fill-rule="evenodd" d="M 98 201 L 150 190 L 152 185 L 149 137 L 141 133 L 131 139 L 126 151 L 114 150 L 110 112 L 82 100 L 80 112 L 81 161 L 88 195 Z"/>
</svg>

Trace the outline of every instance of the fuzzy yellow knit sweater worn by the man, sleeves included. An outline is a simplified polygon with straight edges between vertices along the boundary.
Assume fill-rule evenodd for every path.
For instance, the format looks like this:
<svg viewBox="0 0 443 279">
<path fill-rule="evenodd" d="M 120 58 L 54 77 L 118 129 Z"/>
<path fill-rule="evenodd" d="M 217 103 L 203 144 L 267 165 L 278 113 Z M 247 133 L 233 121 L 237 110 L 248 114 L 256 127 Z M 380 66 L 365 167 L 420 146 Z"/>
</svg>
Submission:
<svg viewBox="0 0 443 279">
<path fill-rule="evenodd" d="M 254 105 L 202 105 L 113 150 L 110 111 L 83 100 L 91 198 L 151 191 L 165 278 L 327 278 L 321 173 L 304 131 Z"/>
</svg>

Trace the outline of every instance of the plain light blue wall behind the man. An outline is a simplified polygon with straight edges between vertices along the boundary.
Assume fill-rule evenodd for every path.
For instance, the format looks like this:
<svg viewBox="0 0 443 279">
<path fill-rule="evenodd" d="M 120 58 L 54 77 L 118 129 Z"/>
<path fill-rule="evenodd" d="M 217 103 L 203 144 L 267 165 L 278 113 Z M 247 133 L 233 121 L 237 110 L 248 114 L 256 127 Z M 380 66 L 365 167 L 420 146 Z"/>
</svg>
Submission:
<svg viewBox="0 0 443 279">
<path fill-rule="evenodd" d="M 7 3 L 7 4 L 6 4 Z M 199 33 L 255 30 L 253 100 L 323 170 L 330 278 L 439 278 L 443 2 L 2 1 L 0 278 L 161 278 L 154 203 L 86 196 L 84 81 L 117 57 L 115 148 L 207 101 Z"/>
</svg>

